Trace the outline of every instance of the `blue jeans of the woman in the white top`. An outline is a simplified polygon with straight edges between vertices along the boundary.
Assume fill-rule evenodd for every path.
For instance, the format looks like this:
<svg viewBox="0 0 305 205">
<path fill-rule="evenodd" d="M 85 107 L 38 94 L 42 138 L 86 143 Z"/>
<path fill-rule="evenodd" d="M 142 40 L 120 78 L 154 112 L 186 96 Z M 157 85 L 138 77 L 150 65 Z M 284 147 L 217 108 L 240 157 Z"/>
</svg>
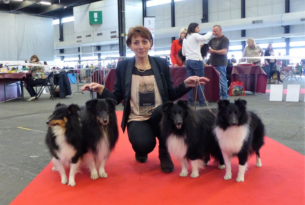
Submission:
<svg viewBox="0 0 305 205">
<path fill-rule="evenodd" d="M 204 66 L 203 66 L 203 61 L 201 61 L 201 60 L 186 60 L 185 69 L 186 69 L 186 74 L 188 77 L 194 76 L 194 75 L 198 76 L 198 77 L 204 77 Z M 203 94 L 202 94 L 199 86 L 201 86 L 203 91 L 204 91 L 204 86 L 203 85 L 197 86 L 199 104 L 204 105 L 205 100 L 204 100 Z M 192 89 L 188 92 L 188 103 L 193 104 L 193 99 L 194 99 L 194 94 L 193 94 L 193 89 Z"/>
</svg>

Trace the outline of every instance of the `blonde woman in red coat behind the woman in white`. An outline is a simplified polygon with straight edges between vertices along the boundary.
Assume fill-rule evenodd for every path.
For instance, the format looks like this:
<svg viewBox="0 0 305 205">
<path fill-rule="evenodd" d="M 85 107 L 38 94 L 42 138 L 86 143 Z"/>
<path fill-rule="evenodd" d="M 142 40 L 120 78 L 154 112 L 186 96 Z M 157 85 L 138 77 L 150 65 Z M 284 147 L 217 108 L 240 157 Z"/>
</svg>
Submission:
<svg viewBox="0 0 305 205">
<path fill-rule="evenodd" d="M 188 29 L 181 29 L 179 32 L 179 39 L 173 40 L 172 46 L 170 47 L 170 60 L 173 63 L 173 66 L 182 66 L 181 60 L 178 58 L 177 53 L 182 48 L 182 41 L 185 37 L 185 34 L 188 32 Z"/>
</svg>

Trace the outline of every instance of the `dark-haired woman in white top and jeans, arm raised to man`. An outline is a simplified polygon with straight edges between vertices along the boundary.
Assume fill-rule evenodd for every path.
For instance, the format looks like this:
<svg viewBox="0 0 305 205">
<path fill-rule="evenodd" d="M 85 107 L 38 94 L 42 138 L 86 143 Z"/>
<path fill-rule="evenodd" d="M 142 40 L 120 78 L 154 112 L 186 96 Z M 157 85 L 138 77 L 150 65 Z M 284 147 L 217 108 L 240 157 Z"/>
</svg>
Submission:
<svg viewBox="0 0 305 205">
<path fill-rule="evenodd" d="M 208 40 L 213 33 L 207 32 L 205 35 L 199 34 L 199 24 L 198 23 L 190 23 L 188 25 L 188 32 L 183 39 L 182 43 L 182 55 L 185 56 L 185 69 L 187 76 L 199 76 L 204 77 L 204 66 L 203 59 L 200 53 L 200 41 Z M 203 94 L 198 85 L 198 97 L 199 97 L 199 105 L 203 107 L 206 105 L 204 101 Z M 203 89 L 203 85 L 201 85 Z M 188 92 L 188 103 L 193 105 L 193 90 Z"/>
</svg>

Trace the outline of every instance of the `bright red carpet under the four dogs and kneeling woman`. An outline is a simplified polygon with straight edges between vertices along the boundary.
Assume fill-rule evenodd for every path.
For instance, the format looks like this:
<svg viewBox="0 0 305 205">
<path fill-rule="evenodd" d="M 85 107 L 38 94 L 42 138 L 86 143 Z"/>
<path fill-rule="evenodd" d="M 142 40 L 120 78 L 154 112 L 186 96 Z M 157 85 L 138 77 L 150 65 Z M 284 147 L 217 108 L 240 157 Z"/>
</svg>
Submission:
<svg viewBox="0 0 305 205">
<path fill-rule="evenodd" d="M 121 119 L 122 112 L 117 114 Z M 163 173 L 157 149 L 148 162 L 138 163 L 127 133 L 121 131 L 105 166 L 108 178 L 92 180 L 84 169 L 75 176 L 76 186 L 70 187 L 60 183 L 50 163 L 11 204 L 304 204 L 304 156 L 270 138 L 265 142 L 260 152 L 263 166 L 256 167 L 252 156 L 245 181 L 237 183 L 237 159 L 232 161 L 231 180 L 223 179 L 225 170 L 214 162 L 194 179 L 179 176 L 177 160 L 173 173 Z"/>
</svg>

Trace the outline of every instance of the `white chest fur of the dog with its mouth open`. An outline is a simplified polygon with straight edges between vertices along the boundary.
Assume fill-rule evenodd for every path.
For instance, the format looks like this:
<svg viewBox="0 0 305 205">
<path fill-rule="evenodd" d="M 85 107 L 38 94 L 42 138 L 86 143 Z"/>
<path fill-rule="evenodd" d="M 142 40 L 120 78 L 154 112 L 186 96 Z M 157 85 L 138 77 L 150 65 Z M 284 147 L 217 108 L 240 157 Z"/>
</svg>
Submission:
<svg viewBox="0 0 305 205">
<path fill-rule="evenodd" d="M 184 137 L 170 134 L 166 141 L 168 152 L 176 159 L 183 159 L 186 155 L 187 145 L 184 142 Z"/>
</svg>

